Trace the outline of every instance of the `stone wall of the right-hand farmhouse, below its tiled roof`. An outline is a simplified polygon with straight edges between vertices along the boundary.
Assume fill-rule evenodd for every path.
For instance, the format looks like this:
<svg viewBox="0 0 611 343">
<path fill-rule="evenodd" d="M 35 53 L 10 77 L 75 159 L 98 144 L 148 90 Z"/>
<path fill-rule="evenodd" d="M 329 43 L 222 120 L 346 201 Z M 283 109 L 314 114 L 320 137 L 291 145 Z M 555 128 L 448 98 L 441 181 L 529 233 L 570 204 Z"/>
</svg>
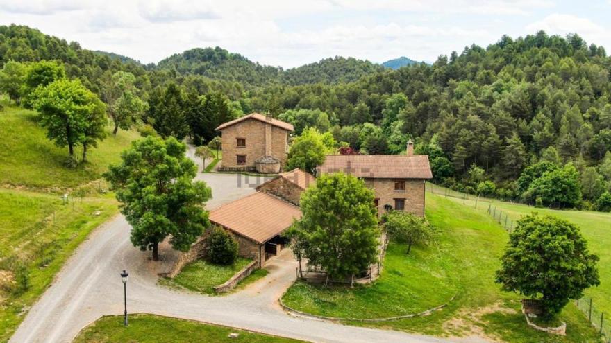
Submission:
<svg viewBox="0 0 611 343">
<path fill-rule="evenodd" d="M 405 191 L 395 191 L 396 181 L 405 181 Z M 404 211 L 424 216 L 424 182 L 422 179 L 365 179 L 365 184 L 374 190 L 380 215 L 385 213 L 385 205 L 394 209 L 395 200 L 404 199 Z"/>
</svg>

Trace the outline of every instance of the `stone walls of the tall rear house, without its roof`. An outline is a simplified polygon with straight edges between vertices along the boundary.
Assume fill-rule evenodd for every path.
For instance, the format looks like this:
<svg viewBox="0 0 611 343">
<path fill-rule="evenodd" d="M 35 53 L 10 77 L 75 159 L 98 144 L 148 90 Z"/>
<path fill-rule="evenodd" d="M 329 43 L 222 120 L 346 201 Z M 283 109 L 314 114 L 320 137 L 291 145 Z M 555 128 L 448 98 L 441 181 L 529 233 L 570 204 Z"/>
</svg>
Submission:
<svg viewBox="0 0 611 343">
<path fill-rule="evenodd" d="M 249 118 L 221 132 L 223 159 L 219 170 L 256 170 L 255 161 L 263 156 L 274 157 L 281 168 L 285 166 L 289 131 Z M 244 139 L 246 144 L 238 146 L 238 139 Z M 237 163 L 238 155 L 244 156 L 244 164 Z"/>
</svg>

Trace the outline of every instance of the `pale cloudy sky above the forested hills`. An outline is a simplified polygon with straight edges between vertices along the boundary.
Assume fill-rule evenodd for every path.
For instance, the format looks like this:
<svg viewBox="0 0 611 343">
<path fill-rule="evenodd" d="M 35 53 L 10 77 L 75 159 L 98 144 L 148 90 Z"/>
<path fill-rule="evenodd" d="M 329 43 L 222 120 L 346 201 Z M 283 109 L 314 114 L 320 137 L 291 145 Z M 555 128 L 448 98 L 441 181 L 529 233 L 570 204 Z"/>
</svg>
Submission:
<svg viewBox="0 0 611 343">
<path fill-rule="evenodd" d="M 611 52 L 611 0 L 0 0 L 0 24 L 24 24 L 141 62 L 221 46 L 297 67 L 335 55 L 434 61 L 544 29 Z"/>
</svg>

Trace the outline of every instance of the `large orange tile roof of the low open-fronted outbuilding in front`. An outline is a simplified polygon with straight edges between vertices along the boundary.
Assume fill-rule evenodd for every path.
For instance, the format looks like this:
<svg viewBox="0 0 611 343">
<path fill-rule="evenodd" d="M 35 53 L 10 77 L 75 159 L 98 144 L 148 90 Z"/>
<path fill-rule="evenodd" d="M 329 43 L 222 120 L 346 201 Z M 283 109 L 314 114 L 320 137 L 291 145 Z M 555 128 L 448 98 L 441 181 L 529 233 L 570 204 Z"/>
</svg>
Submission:
<svg viewBox="0 0 611 343">
<path fill-rule="evenodd" d="M 209 218 L 236 234 L 265 243 L 290 227 L 293 219 L 301 218 L 301 210 L 274 195 L 257 192 L 210 211 Z"/>
</svg>

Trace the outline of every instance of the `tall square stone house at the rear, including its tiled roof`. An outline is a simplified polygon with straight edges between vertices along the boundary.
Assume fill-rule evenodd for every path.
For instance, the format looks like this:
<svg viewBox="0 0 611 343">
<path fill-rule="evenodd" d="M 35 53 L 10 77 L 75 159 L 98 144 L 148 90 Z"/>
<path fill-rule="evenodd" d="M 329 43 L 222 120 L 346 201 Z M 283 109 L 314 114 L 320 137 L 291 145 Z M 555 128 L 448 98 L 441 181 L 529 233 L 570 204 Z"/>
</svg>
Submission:
<svg viewBox="0 0 611 343">
<path fill-rule="evenodd" d="M 293 125 L 253 113 L 216 128 L 221 132 L 223 159 L 219 170 L 278 173 L 286 164 Z"/>
</svg>

